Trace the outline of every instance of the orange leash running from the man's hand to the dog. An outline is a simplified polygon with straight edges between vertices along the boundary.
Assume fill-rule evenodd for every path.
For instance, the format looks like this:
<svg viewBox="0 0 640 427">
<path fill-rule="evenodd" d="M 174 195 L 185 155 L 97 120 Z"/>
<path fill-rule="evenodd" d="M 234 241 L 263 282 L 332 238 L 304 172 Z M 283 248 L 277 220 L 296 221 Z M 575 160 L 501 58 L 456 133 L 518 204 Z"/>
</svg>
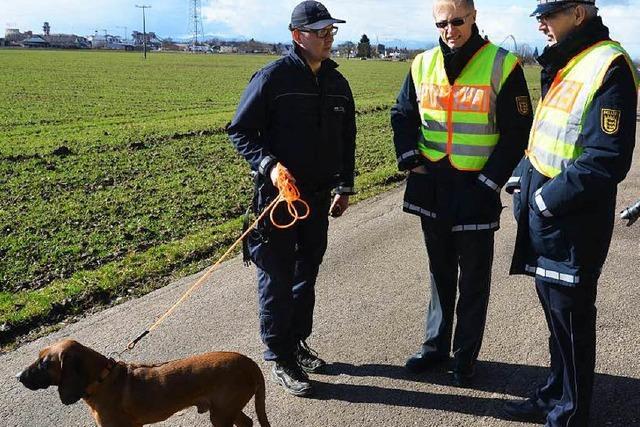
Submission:
<svg viewBox="0 0 640 427">
<path fill-rule="evenodd" d="M 202 277 L 200 277 L 200 279 L 198 279 L 198 281 L 196 283 L 194 283 L 181 297 L 180 299 L 178 299 L 178 301 L 176 301 L 175 304 L 173 304 L 173 306 L 167 310 L 158 320 L 156 320 L 156 322 L 151 325 L 149 327 L 149 329 L 147 329 L 146 331 L 144 331 L 143 333 L 141 333 L 140 335 L 138 335 L 133 341 L 131 341 L 128 345 L 127 348 L 122 351 L 121 353 L 118 353 L 118 355 L 126 352 L 126 351 L 130 351 L 133 350 L 136 345 L 147 335 L 149 335 L 151 333 L 151 331 L 153 331 L 154 329 L 156 329 L 158 326 L 160 326 L 160 324 L 162 322 L 165 321 L 165 319 L 167 317 L 169 317 L 171 315 L 171 313 L 173 313 L 175 311 L 176 308 L 178 308 L 178 306 L 180 304 L 182 304 L 187 298 L 189 298 L 189 296 L 191 296 L 192 293 L 194 293 L 198 288 L 200 288 L 204 282 L 211 276 L 211 274 L 213 274 L 213 272 L 220 266 L 220 264 L 222 264 L 222 262 L 229 256 L 229 254 L 231 252 L 233 252 L 233 250 L 249 235 L 249 233 L 251 231 L 253 231 L 253 229 L 258 225 L 258 223 L 267 215 L 269 215 L 269 218 L 271 219 L 271 223 L 277 227 L 277 228 L 289 228 L 292 227 L 296 222 L 298 222 L 299 220 L 303 220 L 305 218 L 307 218 L 309 216 L 309 214 L 311 213 L 311 208 L 309 208 L 309 205 L 307 204 L 307 202 L 305 202 L 304 200 L 302 200 L 300 198 L 300 191 L 298 190 L 298 187 L 296 187 L 295 183 L 293 182 L 293 179 L 291 177 L 291 175 L 287 172 L 287 170 L 284 167 L 281 167 L 280 164 L 278 164 L 278 179 L 277 179 L 277 187 L 278 187 L 278 197 L 276 197 L 260 214 L 260 216 L 258 216 L 258 218 L 253 222 L 253 224 L 251 224 L 251 226 L 242 234 L 242 236 L 240 236 L 238 238 L 238 240 L 236 240 L 230 247 L 229 249 L 227 249 L 227 251 L 220 257 L 220 259 L 218 259 L 218 261 L 216 261 L 215 264 L 213 264 L 206 273 L 204 273 L 202 275 Z M 291 215 L 291 222 L 288 224 L 278 224 L 274 218 L 273 218 L 273 212 L 275 211 L 276 206 L 278 206 L 280 203 L 286 203 L 287 204 L 287 211 L 289 212 L 289 215 Z M 300 213 L 298 212 L 298 208 L 295 206 L 296 203 L 301 204 L 306 212 L 304 215 L 300 215 Z"/>
</svg>

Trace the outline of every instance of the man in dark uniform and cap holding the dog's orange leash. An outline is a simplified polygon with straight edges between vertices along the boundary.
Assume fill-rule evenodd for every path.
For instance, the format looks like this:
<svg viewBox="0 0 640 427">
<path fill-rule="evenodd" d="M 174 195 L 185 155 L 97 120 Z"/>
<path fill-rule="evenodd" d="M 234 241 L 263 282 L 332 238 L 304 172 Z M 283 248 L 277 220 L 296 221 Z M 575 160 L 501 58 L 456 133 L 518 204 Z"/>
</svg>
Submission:
<svg viewBox="0 0 640 427">
<path fill-rule="evenodd" d="M 334 24 L 344 22 L 316 1 L 298 4 L 289 26 L 294 49 L 253 76 L 228 127 L 236 149 L 257 172 L 254 210 L 276 197 L 280 171 L 295 180 L 311 210 L 292 228 L 261 224 L 248 242 L 258 269 L 264 358 L 275 362 L 274 379 L 297 396 L 311 392 L 307 372 L 325 364 L 306 339 L 328 214 L 342 214 L 354 193 L 355 105 L 338 64 L 329 59 Z"/>
</svg>

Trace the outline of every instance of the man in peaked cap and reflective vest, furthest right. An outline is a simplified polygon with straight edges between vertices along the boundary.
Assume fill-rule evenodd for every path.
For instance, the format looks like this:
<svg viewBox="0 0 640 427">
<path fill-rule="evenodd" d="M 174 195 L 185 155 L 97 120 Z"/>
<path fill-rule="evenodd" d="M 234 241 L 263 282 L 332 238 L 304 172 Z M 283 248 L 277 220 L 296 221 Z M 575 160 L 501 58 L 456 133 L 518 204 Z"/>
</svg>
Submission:
<svg viewBox="0 0 640 427">
<path fill-rule="evenodd" d="M 638 80 L 609 38 L 595 0 L 538 0 L 548 46 L 542 99 L 529 146 L 507 191 L 518 220 L 511 274 L 535 277 L 548 324 L 551 370 L 506 414 L 549 427 L 588 425 L 596 342 L 596 292 L 629 171 Z M 532 15 L 532 16 L 533 16 Z"/>
</svg>

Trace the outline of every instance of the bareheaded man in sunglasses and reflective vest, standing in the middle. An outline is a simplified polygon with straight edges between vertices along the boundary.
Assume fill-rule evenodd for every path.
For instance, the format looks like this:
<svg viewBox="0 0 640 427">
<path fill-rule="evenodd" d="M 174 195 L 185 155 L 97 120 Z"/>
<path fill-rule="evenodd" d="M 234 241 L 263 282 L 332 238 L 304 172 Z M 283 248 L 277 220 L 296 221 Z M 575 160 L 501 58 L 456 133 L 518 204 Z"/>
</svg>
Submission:
<svg viewBox="0 0 640 427">
<path fill-rule="evenodd" d="M 533 114 L 522 67 L 480 36 L 473 0 L 438 0 L 433 15 L 439 46 L 413 61 L 391 111 L 398 167 L 409 171 L 404 210 L 420 216 L 431 272 L 425 338 L 406 368 L 421 373 L 453 354 L 453 382 L 466 386 L 484 334 L 500 189 Z"/>
</svg>

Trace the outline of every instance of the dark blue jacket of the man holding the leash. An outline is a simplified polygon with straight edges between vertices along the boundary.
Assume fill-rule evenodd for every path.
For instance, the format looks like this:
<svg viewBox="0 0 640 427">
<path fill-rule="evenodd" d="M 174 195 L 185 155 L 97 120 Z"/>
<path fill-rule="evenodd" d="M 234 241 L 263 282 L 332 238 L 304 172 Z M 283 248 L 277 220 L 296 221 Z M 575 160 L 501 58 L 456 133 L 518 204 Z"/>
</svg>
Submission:
<svg viewBox="0 0 640 427">
<path fill-rule="evenodd" d="M 353 192 L 355 106 L 337 67 L 327 59 L 316 76 L 292 51 L 254 74 L 227 127 L 252 170 L 280 162 L 303 192 Z"/>
</svg>

